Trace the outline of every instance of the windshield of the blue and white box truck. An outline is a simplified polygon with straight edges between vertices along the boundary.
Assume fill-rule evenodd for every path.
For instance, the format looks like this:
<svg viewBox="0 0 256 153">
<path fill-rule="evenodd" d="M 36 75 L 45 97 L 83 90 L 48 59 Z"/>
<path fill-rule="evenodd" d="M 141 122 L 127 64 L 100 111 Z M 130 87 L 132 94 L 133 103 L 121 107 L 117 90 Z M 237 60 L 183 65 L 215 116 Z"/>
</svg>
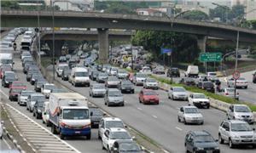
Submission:
<svg viewBox="0 0 256 153">
<path fill-rule="evenodd" d="M 89 111 L 83 109 L 64 109 L 63 119 L 67 120 L 86 120 L 89 118 Z"/>
</svg>

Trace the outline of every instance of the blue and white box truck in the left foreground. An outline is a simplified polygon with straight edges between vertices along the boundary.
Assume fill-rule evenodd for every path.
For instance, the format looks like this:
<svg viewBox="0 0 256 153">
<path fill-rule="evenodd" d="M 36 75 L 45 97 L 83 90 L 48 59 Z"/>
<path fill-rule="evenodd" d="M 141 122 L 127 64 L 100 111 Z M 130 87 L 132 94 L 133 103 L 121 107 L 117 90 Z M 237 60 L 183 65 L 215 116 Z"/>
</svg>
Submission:
<svg viewBox="0 0 256 153">
<path fill-rule="evenodd" d="M 90 114 L 88 99 L 77 93 L 52 93 L 49 95 L 49 124 L 51 132 L 67 136 L 86 136 L 90 139 Z"/>
</svg>

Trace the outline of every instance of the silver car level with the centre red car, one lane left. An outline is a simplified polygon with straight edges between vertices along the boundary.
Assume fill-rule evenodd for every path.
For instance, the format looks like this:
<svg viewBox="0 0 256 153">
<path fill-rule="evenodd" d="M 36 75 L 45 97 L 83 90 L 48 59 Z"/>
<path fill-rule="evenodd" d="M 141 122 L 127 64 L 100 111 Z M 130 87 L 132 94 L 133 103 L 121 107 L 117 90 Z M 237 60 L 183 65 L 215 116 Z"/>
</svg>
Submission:
<svg viewBox="0 0 256 153">
<path fill-rule="evenodd" d="M 105 105 L 121 105 L 125 106 L 125 100 L 123 94 L 117 88 L 108 88 L 105 97 Z"/>
</svg>

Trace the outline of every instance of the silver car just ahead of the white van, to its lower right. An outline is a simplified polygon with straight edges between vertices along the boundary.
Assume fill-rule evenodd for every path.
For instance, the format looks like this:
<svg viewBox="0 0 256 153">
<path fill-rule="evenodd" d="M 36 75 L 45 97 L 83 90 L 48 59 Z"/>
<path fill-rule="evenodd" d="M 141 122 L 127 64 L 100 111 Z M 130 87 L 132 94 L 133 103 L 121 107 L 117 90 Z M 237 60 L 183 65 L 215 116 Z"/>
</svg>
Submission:
<svg viewBox="0 0 256 153">
<path fill-rule="evenodd" d="M 104 84 L 92 84 L 89 89 L 89 95 L 91 97 L 104 97 L 106 94 L 106 88 Z"/>
</svg>

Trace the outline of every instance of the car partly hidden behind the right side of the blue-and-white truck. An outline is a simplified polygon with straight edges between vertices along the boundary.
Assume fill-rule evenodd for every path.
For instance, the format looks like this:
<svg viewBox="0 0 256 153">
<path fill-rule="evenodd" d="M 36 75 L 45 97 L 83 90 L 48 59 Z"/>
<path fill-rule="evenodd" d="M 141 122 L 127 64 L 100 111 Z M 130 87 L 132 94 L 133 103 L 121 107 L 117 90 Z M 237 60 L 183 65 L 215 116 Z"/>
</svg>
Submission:
<svg viewBox="0 0 256 153">
<path fill-rule="evenodd" d="M 92 116 L 90 116 L 91 127 L 99 127 L 99 123 L 105 114 L 98 107 L 89 107 L 89 111 L 92 112 Z"/>
</svg>

